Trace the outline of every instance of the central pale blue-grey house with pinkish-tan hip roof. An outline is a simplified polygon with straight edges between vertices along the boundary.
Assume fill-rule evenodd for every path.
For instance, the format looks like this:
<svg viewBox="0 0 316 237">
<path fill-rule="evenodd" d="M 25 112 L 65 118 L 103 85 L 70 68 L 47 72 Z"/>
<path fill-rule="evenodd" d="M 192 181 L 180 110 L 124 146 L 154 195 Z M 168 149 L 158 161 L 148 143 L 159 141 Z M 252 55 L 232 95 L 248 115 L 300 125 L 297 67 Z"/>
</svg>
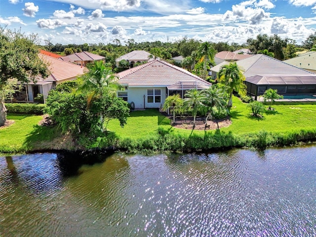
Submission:
<svg viewBox="0 0 316 237">
<path fill-rule="evenodd" d="M 118 91 L 118 97 L 134 105 L 135 109 L 162 108 L 169 95 L 179 94 L 183 98 L 186 90 L 211 86 L 187 70 L 158 59 L 117 76 L 118 83 L 125 87 Z"/>
</svg>

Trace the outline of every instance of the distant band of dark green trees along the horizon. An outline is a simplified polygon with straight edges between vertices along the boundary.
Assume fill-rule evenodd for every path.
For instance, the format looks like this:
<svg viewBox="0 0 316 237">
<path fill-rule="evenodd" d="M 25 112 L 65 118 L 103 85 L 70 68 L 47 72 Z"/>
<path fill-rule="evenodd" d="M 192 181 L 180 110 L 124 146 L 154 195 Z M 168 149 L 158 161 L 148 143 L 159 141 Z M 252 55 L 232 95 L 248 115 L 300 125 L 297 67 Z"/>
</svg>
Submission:
<svg viewBox="0 0 316 237">
<path fill-rule="evenodd" d="M 115 68 L 115 59 L 133 50 L 145 50 L 163 58 L 171 60 L 172 57 L 180 56 L 191 57 L 197 48 L 203 43 L 201 40 L 183 37 L 175 42 L 136 42 L 133 39 L 121 42 L 116 39 L 112 43 L 83 43 L 83 44 L 53 44 L 50 40 L 45 40 L 46 45 L 41 46 L 47 51 L 60 55 L 69 55 L 75 52 L 88 51 L 105 57 L 106 62 Z M 268 36 L 266 34 L 257 35 L 256 38 L 249 38 L 243 44 L 228 43 L 227 41 L 209 42 L 216 52 L 236 51 L 241 48 L 248 48 L 253 54 L 262 53 L 264 50 L 272 52 L 274 57 L 284 60 L 296 56 L 297 51 L 304 49 L 310 50 L 316 44 L 316 33 L 311 34 L 301 45 L 295 40 L 282 39 L 278 35 Z M 156 55 L 159 54 L 159 55 Z M 171 62 L 171 61 L 170 61 Z M 181 66 L 181 65 L 178 65 Z"/>
</svg>

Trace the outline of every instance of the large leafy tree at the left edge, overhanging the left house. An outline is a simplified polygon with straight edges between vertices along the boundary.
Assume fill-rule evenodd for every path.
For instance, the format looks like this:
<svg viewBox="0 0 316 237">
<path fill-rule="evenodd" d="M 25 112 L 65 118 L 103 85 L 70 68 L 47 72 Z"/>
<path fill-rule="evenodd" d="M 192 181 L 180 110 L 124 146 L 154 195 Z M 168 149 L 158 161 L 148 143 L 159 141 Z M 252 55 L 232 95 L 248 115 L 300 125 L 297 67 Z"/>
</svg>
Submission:
<svg viewBox="0 0 316 237">
<path fill-rule="evenodd" d="M 39 57 L 37 41 L 36 35 L 27 37 L 20 31 L 0 27 L 0 90 L 7 87 L 10 79 L 28 82 L 35 81 L 39 75 L 48 76 L 47 65 Z M 0 126 L 6 121 L 5 97 L 0 97 Z"/>
</svg>

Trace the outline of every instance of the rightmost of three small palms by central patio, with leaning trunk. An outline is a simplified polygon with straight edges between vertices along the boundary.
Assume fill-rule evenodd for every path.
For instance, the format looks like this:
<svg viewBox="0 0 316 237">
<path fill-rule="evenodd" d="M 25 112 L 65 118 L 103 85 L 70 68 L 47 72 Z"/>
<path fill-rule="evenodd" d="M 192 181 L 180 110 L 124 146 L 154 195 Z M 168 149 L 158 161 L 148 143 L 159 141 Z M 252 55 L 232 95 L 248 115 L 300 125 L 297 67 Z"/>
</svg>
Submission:
<svg viewBox="0 0 316 237">
<path fill-rule="evenodd" d="M 212 85 L 204 90 L 204 94 L 207 98 L 207 116 L 205 119 L 205 125 L 209 118 L 213 117 L 213 108 L 217 107 L 218 109 L 224 109 L 226 106 L 226 93 L 222 88 L 219 88 L 216 85 Z M 218 125 L 217 125 L 218 126 Z M 206 126 L 205 126 L 206 127 Z"/>
</svg>

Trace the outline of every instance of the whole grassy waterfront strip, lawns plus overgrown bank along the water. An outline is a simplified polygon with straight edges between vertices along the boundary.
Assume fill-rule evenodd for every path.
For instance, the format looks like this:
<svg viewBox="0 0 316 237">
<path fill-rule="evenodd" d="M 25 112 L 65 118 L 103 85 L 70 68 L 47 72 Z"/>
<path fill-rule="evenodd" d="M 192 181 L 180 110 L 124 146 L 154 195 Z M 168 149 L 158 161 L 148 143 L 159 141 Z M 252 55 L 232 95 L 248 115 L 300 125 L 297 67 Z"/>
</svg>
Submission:
<svg viewBox="0 0 316 237">
<path fill-rule="evenodd" d="M 316 103 L 279 104 L 263 118 L 249 115 L 246 104 L 234 98 L 232 124 L 218 130 L 174 128 L 157 110 L 131 112 L 124 128 L 112 120 L 107 137 L 75 144 L 56 127 L 40 126 L 41 116 L 9 114 L 15 122 L 0 128 L 0 153 L 40 150 L 78 150 L 114 147 L 128 152 L 206 151 L 248 147 L 263 149 L 316 140 Z M 78 145 L 80 144 L 80 145 Z"/>
</svg>

